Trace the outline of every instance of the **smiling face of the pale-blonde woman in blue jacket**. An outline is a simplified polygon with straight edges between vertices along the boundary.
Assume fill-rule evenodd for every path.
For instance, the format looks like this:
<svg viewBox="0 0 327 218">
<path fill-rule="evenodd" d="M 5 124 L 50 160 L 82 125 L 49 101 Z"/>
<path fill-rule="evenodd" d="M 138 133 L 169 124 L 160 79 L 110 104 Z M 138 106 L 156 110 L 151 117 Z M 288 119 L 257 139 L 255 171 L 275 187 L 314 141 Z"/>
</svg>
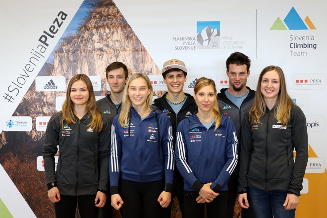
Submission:
<svg viewBox="0 0 327 218">
<path fill-rule="evenodd" d="M 129 83 L 127 94 L 133 107 L 146 107 L 150 93 L 151 90 L 142 77 L 138 77 Z"/>
</svg>

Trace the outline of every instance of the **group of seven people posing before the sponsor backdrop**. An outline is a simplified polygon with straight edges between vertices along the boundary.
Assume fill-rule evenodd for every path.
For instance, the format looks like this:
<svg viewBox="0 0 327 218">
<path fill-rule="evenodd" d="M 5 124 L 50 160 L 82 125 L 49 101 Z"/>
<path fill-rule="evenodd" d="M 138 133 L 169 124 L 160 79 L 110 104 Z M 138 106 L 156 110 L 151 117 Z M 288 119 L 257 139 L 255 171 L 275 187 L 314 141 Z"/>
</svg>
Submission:
<svg viewBox="0 0 327 218">
<path fill-rule="evenodd" d="M 110 218 L 113 208 L 123 218 L 169 218 L 176 196 L 183 218 L 205 208 L 208 218 L 232 218 L 236 199 L 242 218 L 294 218 L 308 136 L 281 68 L 263 69 L 253 91 L 250 59 L 235 52 L 229 87 L 217 93 L 202 77 L 193 96 L 183 92 L 183 61 L 164 62 L 162 73 L 167 92 L 154 103 L 149 77 L 128 78 L 121 62 L 107 67 L 110 94 L 98 102 L 88 76 L 70 79 L 43 151 L 56 217 L 74 218 L 78 205 L 82 218 Z"/>
</svg>

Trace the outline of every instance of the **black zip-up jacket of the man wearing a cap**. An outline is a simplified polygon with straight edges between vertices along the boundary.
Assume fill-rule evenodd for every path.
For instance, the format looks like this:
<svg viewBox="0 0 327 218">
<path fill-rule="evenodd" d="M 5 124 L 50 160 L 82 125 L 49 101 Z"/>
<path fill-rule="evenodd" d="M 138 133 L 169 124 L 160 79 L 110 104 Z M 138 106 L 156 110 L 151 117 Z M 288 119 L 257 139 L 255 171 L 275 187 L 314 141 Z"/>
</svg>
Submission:
<svg viewBox="0 0 327 218">
<path fill-rule="evenodd" d="M 162 110 L 168 117 L 172 125 L 172 133 L 173 133 L 173 146 L 175 147 L 176 142 L 176 131 L 177 131 L 177 125 L 178 123 L 185 119 L 186 117 L 191 116 L 195 111 L 198 111 L 198 107 L 195 104 L 193 96 L 190 94 L 184 93 L 186 95 L 186 101 L 183 105 L 183 107 L 178 111 L 176 114 L 174 110 L 170 107 L 170 105 L 167 103 L 166 95 L 167 92 L 163 94 L 163 96 L 159 99 L 155 99 L 154 106 L 155 108 Z"/>
</svg>

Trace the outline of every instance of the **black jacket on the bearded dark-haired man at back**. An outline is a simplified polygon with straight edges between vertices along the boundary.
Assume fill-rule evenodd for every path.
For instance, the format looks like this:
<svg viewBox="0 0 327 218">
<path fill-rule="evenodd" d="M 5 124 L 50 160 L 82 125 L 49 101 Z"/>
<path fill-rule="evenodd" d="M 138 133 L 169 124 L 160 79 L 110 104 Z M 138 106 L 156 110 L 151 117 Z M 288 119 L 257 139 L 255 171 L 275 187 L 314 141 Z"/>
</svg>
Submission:
<svg viewBox="0 0 327 218">
<path fill-rule="evenodd" d="M 217 94 L 218 107 L 221 114 L 228 116 L 234 123 L 236 128 L 236 135 L 238 139 L 238 154 L 240 152 L 240 147 L 242 147 L 242 137 L 241 137 L 241 123 L 243 119 L 249 118 L 249 110 L 252 107 L 255 91 L 246 87 L 249 90 L 248 96 L 242 102 L 241 108 L 238 108 L 234 103 L 232 103 L 227 96 L 225 91 L 228 88 L 220 89 L 220 93 Z M 233 173 L 237 174 L 238 166 L 235 168 Z"/>
</svg>

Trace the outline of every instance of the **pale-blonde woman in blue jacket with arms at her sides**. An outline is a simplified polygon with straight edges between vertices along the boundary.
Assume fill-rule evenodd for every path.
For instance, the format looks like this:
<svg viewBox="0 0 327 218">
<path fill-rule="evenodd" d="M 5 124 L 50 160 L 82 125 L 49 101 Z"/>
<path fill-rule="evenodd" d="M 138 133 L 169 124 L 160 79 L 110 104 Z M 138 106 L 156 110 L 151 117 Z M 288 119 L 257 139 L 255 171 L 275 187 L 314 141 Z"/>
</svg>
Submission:
<svg viewBox="0 0 327 218">
<path fill-rule="evenodd" d="M 167 115 L 150 107 L 152 96 L 149 77 L 133 74 L 111 126 L 111 205 L 124 218 L 136 218 L 142 206 L 146 218 L 160 217 L 171 201 L 172 127 Z"/>
</svg>

